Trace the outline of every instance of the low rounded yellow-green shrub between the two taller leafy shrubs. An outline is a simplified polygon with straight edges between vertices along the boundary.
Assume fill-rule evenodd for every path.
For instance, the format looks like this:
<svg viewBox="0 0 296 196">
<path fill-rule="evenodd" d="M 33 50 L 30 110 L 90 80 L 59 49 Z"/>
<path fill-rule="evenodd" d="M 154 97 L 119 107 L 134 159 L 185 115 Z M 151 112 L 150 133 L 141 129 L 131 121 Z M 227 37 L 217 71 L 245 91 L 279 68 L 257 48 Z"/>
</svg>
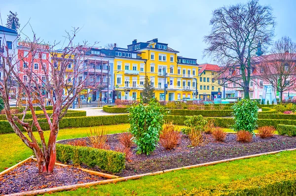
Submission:
<svg viewBox="0 0 296 196">
<path fill-rule="evenodd" d="M 189 128 L 182 128 L 181 131 L 186 135 L 191 130 L 190 128 L 194 128 L 195 130 L 198 130 L 198 131 L 204 131 L 207 123 L 208 121 L 202 115 L 186 116 L 186 120 L 184 121 L 184 124 Z"/>
</svg>

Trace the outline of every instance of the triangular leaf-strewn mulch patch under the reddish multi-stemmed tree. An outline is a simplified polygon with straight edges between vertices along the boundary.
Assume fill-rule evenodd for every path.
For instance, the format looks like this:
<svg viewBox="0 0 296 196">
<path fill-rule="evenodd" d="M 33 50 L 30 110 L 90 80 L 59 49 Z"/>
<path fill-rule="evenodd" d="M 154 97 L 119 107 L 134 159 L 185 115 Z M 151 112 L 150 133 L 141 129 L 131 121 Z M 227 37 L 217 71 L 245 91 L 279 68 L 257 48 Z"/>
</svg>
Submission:
<svg viewBox="0 0 296 196">
<path fill-rule="evenodd" d="M 72 166 L 55 165 L 54 173 L 38 173 L 35 161 L 26 162 L 0 176 L 0 195 L 105 180 Z"/>
</svg>

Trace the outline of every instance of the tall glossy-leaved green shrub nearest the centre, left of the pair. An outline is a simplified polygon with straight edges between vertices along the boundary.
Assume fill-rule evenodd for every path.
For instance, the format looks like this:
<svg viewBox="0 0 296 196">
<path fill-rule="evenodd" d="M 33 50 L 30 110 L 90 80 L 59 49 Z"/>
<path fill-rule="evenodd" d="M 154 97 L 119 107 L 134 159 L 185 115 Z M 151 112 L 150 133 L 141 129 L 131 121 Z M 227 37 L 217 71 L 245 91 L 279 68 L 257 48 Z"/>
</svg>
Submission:
<svg viewBox="0 0 296 196">
<path fill-rule="evenodd" d="M 130 132 L 134 135 L 138 154 L 149 155 L 159 141 L 159 133 L 164 123 L 164 109 L 159 103 L 151 101 L 149 104 L 140 103 L 129 109 L 128 119 Z"/>
</svg>

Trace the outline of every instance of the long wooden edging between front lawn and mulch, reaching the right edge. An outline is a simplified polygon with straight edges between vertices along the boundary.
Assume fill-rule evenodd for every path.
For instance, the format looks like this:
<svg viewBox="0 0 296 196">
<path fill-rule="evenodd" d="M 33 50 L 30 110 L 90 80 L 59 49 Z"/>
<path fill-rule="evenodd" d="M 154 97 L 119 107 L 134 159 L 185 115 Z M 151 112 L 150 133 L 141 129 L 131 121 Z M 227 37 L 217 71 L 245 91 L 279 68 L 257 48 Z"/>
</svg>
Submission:
<svg viewBox="0 0 296 196">
<path fill-rule="evenodd" d="M 190 168 L 196 168 L 196 167 L 202 167 L 202 166 L 209 166 L 209 165 L 215 165 L 215 164 L 219 164 L 219 163 L 228 163 L 228 162 L 236 161 L 236 160 L 260 157 L 262 155 L 273 155 L 273 154 L 277 154 L 277 153 L 284 152 L 284 151 L 295 151 L 295 150 L 296 150 L 296 148 L 292 148 L 292 149 L 287 149 L 287 150 L 279 150 L 279 151 L 273 151 L 273 152 L 267 152 L 267 153 L 260 153 L 260 154 L 256 154 L 256 155 L 249 155 L 249 156 L 244 156 L 244 157 L 225 159 L 225 160 L 220 160 L 220 161 L 215 161 L 215 162 L 194 164 L 194 165 L 189 165 L 189 166 L 184 166 L 184 167 L 166 169 L 166 170 L 162 170 L 162 171 L 144 173 L 144 174 L 139 174 L 139 175 L 127 176 L 127 177 L 119 177 L 119 178 L 109 179 L 109 180 L 102 180 L 102 181 L 89 182 L 89 183 L 83 183 L 83 184 L 75 184 L 75 185 L 62 186 L 62 187 L 54 187 L 54 188 L 48 188 L 48 189 L 40 189 L 40 190 L 35 190 L 35 191 L 27 191 L 27 192 L 22 192 L 22 193 L 17 193 L 17 194 L 11 194 L 10 196 L 35 196 L 35 195 L 41 195 L 41 194 L 45 194 L 45 193 L 49 193 L 49 192 L 54 193 L 54 192 L 59 192 L 59 191 L 69 191 L 69 190 L 81 188 L 81 187 L 89 187 L 89 186 L 95 186 L 95 185 L 117 183 L 117 182 L 122 182 L 122 181 L 127 181 L 127 180 L 135 180 L 135 179 L 139 179 L 143 176 L 153 176 L 153 175 L 158 175 L 158 174 L 162 174 L 162 173 L 168 173 L 168 172 L 172 172 L 172 171 L 182 170 L 182 169 L 190 169 Z"/>
</svg>

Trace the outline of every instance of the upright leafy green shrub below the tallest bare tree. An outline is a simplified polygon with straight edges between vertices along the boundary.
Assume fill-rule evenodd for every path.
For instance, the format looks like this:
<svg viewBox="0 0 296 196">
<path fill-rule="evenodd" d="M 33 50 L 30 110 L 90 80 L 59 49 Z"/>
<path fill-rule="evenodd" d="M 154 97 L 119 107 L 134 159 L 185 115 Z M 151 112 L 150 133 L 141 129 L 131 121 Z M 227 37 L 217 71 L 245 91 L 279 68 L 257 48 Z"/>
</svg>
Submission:
<svg viewBox="0 0 296 196">
<path fill-rule="evenodd" d="M 234 125 L 232 129 L 234 131 L 249 131 L 254 133 L 254 130 L 258 127 L 258 106 L 256 101 L 251 99 L 243 99 L 238 101 L 232 107 L 234 117 Z"/>
</svg>

